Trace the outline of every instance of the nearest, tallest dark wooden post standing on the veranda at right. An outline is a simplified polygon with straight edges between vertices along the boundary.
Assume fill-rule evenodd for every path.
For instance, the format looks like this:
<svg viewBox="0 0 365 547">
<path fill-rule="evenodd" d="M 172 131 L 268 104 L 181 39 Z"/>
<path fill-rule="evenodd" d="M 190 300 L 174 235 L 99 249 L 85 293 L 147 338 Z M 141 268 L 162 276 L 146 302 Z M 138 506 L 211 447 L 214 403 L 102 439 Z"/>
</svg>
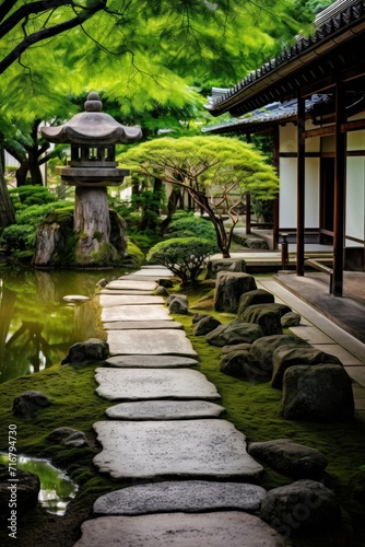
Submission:
<svg viewBox="0 0 365 547">
<path fill-rule="evenodd" d="M 333 210 L 333 295 L 343 294 L 344 214 L 346 201 L 346 133 L 341 132 L 345 121 L 344 89 L 335 84 L 335 153 L 334 153 L 334 210 Z"/>
</svg>

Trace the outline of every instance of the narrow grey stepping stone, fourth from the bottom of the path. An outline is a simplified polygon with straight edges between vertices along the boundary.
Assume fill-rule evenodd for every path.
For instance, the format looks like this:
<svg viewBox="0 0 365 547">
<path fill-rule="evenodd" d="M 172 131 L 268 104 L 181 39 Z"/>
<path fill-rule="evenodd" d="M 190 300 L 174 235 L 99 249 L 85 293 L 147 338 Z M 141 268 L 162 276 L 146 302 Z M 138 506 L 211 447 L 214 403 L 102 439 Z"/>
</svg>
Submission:
<svg viewBox="0 0 365 547">
<path fill-rule="evenodd" d="M 220 418 L 225 409 L 208 400 L 142 400 L 107 408 L 111 420 L 191 420 Z"/>
</svg>

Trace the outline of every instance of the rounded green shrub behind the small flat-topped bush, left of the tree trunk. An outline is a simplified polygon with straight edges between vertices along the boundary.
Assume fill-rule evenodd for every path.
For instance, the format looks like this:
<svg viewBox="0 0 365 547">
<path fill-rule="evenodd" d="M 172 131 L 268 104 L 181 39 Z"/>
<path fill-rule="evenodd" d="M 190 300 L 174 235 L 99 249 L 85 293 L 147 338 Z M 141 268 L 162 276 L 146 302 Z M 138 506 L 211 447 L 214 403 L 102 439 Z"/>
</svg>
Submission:
<svg viewBox="0 0 365 547">
<path fill-rule="evenodd" d="M 196 217 L 193 212 L 178 211 L 173 214 L 173 221 L 167 229 L 167 237 L 191 236 L 216 242 L 214 226 L 209 220 Z"/>
</svg>

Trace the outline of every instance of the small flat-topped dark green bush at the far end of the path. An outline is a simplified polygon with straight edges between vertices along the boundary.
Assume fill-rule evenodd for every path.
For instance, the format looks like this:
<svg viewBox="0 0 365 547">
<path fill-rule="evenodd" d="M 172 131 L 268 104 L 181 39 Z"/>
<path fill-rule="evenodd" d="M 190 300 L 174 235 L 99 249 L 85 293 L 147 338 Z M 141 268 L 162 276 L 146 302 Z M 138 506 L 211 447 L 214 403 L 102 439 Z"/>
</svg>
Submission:
<svg viewBox="0 0 365 547">
<path fill-rule="evenodd" d="M 205 259 L 215 251 L 209 240 L 176 237 L 157 243 L 146 256 L 149 263 L 170 269 L 182 284 L 196 283 L 205 267 Z"/>
</svg>

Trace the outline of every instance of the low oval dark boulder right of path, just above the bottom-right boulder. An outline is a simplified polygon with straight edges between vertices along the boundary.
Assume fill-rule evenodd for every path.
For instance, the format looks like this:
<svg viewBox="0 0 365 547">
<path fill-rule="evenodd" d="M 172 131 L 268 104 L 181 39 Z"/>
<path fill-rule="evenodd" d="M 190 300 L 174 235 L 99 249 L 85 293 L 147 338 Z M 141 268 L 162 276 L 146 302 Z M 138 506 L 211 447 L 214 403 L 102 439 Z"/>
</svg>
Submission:
<svg viewBox="0 0 365 547">
<path fill-rule="evenodd" d="M 290 439 L 250 443 L 248 453 L 261 464 L 296 478 L 319 478 L 328 465 L 321 452 Z"/>
</svg>

